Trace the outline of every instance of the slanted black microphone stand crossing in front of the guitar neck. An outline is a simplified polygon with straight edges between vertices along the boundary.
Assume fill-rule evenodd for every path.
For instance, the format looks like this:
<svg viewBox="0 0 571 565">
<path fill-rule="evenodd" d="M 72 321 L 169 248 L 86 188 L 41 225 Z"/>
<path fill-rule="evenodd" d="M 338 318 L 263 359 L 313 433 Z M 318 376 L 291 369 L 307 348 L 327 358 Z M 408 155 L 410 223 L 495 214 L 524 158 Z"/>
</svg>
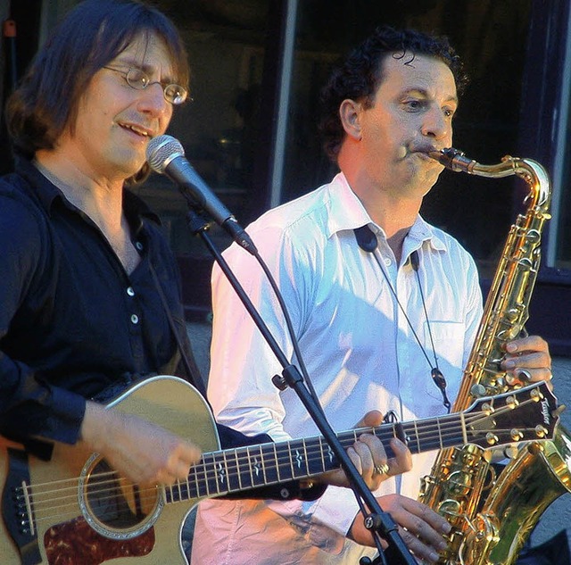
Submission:
<svg viewBox="0 0 571 565">
<path fill-rule="evenodd" d="M 402 538 L 398 532 L 398 526 L 394 522 L 390 514 L 383 511 L 377 503 L 377 499 L 371 493 L 370 489 L 366 485 L 363 478 L 360 476 L 359 472 L 353 465 L 351 459 L 345 453 L 343 446 L 335 436 L 334 430 L 329 425 L 325 414 L 319 409 L 318 404 L 310 391 L 305 385 L 302 375 L 299 370 L 297 370 L 294 365 L 292 365 L 287 358 L 285 353 L 281 351 L 279 345 L 277 345 L 276 340 L 271 335 L 269 328 L 266 323 L 261 319 L 260 313 L 255 309 L 250 300 L 249 296 L 245 294 L 244 288 L 240 285 L 236 276 L 228 266 L 228 262 L 222 257 L 219 250 L 213 245 L 211 237 L 206 233 L 210 226 L 210 222 L 204 220 L 204 218 L 198 213 L 195 208 L 193 200 L 188 197 L 184 191 L 183 195 L 186 198 L 188 204 L 188 214 L 187 223 L 193 235 L 200 235 L 202 237 L 204 244 L 210 251 L 214 260 L 219 264 L 220 269 L 224 272 L 225 276 L 228 278 L 228 282 L 236 291 L 236 294 L 244 303 L 244 307 L 252 317 L 253 322 L 260 329 L 262 337 L 266 340 L 272 352 L 276 355 L 277 361 L 281 364 L 283 371 L 282 376 L 276 375 L 272 378 L 272 382 L 280 390 L 285 390 L 287 386 L 294 389 L 296 394 L 300 397 L 303 405 L 310 413 L 311 418 L 315 421 L 317 427 L 321 431 L 322 435 L 326 438 L 327 444 L 331 446 L 331 449 L 335 453 L 337 460 L 341 463 L 341 467 L 347 476 L 350 485 L 356 496 L 358 496 L 358 502 L 364 501 L 368 506 L 369 513 L 365 516 L 365 527 L 371 532 L 373 537 L 377 542 L 378 557 L 371 561 L 368 557 L 364 557 L 360 560 L 360 563 L 365 565 L 366 563 L 390 563 L 390 565 L 416 565 L 417 561 L 412 557 L 407 546 L 402 541 Z M 364 508 L 360 503 L 361 511 L 365 514 Z M 378 543 L 378 536 L 383 537 L 388 546 L 383 552 L 380 544 Z M 380 561 L 379 561 L 380 560 Z"/>
</svg>

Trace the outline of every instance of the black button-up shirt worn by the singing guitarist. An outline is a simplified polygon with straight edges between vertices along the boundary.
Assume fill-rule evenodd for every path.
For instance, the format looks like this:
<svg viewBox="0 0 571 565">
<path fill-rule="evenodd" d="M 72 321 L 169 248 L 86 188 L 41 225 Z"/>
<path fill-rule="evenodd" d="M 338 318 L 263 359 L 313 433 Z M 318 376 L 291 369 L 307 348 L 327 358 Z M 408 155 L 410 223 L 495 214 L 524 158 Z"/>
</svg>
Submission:
<svg viewBox="0 0 571 565">
<path fill-rule="evenodd" d="M 124 193 L 141 262 L 130 275 L 95 223 L 28 162 L 0 179 L 0 430 L 74 443 L 86 399 L 178 351 L 161 282 L 186 337 L 178 270 L 158 218 Z"/>
</svg>

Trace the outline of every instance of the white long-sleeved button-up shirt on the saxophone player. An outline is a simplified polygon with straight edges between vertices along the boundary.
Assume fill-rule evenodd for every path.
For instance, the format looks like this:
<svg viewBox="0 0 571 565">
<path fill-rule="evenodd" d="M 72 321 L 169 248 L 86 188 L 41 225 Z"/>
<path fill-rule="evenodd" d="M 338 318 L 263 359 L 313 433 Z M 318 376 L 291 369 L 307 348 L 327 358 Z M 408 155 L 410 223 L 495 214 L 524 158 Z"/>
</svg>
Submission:
<svg viewBox="0 0 571 565">
<path fill-rule="evenodd" d="M 373 253 L 380 265 L 357 244 L 353 229 L 364 225 L 377 235 Z M 418 216 L 397 265 L 383 229 L 372 222 L 343 173 L 265 213 L 248 233 L 281 290 L 335 431 L 351 429 L 373 409 L 393 410 L 400 420 L 446 412 L 430 376 L 434 354 L 453 403 L 482 316 L 476 264 L 453 237 Z M 410 265 L 413 251 L 418 252 L 420 283 Z M 287 359 L 299 367 L 258 262 L 237 245 L 224 255 Z M 279 392 L 272 384 L 282 367 L 219 268 L 212 274 L 212 298 L 208 396 L 216 419 L 276 441 L 319 434 L 294 391 Z M 386 480 L 376 494 L 417 498 L 434 456 L 415 455 L 413 469 Z M 364 548 L 344 536 L 358 510 L 352 491 L 334 486 L 313 503 L 204 501 L 192 562 L 353 564 Z M 374 554 L 369 549 L 366 553 Z"/>
</svg>

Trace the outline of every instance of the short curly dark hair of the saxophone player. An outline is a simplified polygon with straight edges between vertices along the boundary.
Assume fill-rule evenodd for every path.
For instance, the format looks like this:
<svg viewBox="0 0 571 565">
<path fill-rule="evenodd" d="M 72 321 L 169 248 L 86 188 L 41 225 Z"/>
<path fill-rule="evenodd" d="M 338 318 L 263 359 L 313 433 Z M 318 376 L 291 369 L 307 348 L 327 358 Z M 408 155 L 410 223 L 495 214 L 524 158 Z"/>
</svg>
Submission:
<svg viewBox="0 0 571 565">
<path fill-rule="evenodd" d="M 410 61 L 418 54 L 437 57 L 450 68 L 459 94 L 466 86 L 462 62 L 446 37 L 429 36 L 415 29 L 377 28 L 335 68 L 321 90 L 319 132 L 327 156 L 333 162 L 337 161 L 345 136 L 339 117 L 341 103 L 349 98 L 363 102 L 366 108 L 373 104 L 383 79 L 382 63 L 388 54 L 410 57 Z"/>
</svg>

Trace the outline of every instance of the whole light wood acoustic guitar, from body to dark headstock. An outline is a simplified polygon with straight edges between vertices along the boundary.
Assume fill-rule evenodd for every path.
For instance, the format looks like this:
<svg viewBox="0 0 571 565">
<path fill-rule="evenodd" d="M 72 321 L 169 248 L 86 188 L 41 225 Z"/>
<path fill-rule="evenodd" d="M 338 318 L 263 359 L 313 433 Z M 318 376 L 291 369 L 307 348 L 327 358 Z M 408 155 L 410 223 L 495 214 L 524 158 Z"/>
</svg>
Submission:
<svg viewBox="0 0 571 565">
<path fill-rule="evenodd" d="M 203 456 L 185 481 L 144 487 L 121 478 L 97 453 L 56 444 L 50 461 L 0 438 L 3 565 L 186 565 L 181 533 L 203 498 L 309 478 L 338 467 L 322 437 L 220 450 L 211 411 L 193 386 L 159 376 L 128 389 L 108 408 L 152 421 L 200 445 Z M 542 383 L 477 400 L 467 411 L 338 434 L 349 447 L 376 434 L 389 455 L 393 436 L 411 453 L 476 444 L 497 447 L 550 439 L 557 402 Z"/>
</svg>

